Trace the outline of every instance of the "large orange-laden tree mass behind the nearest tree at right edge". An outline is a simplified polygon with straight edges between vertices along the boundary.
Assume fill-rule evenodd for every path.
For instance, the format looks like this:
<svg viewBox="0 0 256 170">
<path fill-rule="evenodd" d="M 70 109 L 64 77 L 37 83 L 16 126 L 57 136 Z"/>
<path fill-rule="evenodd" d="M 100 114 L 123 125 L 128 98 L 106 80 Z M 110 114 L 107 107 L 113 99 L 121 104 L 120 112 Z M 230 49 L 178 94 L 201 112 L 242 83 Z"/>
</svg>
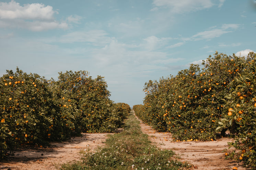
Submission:
<svg viewBox="0 0 256 170">
<path fill-rule="evenodd" d="M 214 140 L 222 99 L 240 71 L 236 63 L 241 61 L 235 55 L 216 52 L 203 61 L 202 69 L 192 64 L 175 77 L 150 80 L 144 87 L 141 119 L 156 130 L 172 132 L 175 140 Z"/>
</svg>

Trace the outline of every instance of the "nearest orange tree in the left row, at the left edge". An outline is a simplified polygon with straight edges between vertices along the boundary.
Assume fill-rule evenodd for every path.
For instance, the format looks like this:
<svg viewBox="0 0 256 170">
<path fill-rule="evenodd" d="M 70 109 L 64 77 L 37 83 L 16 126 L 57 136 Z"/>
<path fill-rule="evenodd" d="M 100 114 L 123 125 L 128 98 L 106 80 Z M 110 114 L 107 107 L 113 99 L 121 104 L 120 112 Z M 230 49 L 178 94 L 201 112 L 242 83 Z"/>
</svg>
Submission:
<svg viewBox="0 0 256 170">
<path fill-rule="evenodd" d="M 1 129 L 8 134 L 8 148 L 24 143 L 44 143 L 48 138 L 46 128 L 52 125 L 52 93 L 47 81 L 37 74 L 26 74 L 17 68 L 16 73 L 7 70 L 1 77 Z M 45 107 L 47 106 L 47 107 Z M 6 147 L 5 146 L 5 147 Z"/>
</svg>

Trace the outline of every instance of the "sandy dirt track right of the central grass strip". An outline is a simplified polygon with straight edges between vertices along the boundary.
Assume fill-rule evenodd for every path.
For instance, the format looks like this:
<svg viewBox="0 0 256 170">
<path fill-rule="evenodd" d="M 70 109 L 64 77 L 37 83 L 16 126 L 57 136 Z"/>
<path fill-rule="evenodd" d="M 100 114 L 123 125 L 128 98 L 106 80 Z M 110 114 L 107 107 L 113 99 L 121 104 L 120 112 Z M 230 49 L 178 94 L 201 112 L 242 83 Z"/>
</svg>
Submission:
<svg viewBox="0 0 256 170">
<path fill-rule="evenodd" d="M 172 149 L 184 161 L 190 162 L 198 170 L 232 170 L 237 167 L 238 170 L 248 170 L 243 168 L 242 163 L 225 160 L 225 152 L 228 149 L 227 142 L 231 139 L 222 138 L 213 142 L 171 142 L 171 133 L 159 133 L 153 130 L 150 126 L 144 124 L 140 120 L 143 133 L 149 135 L 150 140 L 159 148 Z"/>
</svg>

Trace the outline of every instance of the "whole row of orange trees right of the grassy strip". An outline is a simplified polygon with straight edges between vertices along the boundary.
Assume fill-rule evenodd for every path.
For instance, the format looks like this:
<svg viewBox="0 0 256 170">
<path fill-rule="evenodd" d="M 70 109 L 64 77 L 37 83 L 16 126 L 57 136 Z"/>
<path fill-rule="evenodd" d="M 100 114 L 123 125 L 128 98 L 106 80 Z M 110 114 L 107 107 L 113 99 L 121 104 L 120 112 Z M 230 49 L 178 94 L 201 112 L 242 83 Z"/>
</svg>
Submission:
<svg viewBox="0 0 256 170">
<path fill-rule="evenodd" d="M 215 140 L 229 129 L 236 139 L 230 145 L 246 151 L 243 160 L 255 167 L 255 53 L 245 58 L 216 52 L 202 65 L 145 83 L 144 105 L 133 106 L 136 115 L 170 131 L 175 141 Z"/>
</svg>

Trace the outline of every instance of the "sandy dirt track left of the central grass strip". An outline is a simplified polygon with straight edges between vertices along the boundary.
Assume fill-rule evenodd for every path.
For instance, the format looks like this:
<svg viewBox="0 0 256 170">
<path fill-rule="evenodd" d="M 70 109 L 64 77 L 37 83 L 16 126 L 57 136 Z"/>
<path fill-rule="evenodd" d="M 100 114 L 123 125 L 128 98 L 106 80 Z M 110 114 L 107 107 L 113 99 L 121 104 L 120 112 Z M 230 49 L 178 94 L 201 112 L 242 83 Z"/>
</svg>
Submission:
<svg viewBox="0 0 256 170">
<path fill-rule="evenodd" d="M 85 133 L 67 142 L 51 143 L 48 148 L 21 149 L 0 162 L 0 170 L 56 170 L 56 165 L 79 160 L 81 149 L 103 146 L 105 139 L 106 133 Z"/>
</svg>

